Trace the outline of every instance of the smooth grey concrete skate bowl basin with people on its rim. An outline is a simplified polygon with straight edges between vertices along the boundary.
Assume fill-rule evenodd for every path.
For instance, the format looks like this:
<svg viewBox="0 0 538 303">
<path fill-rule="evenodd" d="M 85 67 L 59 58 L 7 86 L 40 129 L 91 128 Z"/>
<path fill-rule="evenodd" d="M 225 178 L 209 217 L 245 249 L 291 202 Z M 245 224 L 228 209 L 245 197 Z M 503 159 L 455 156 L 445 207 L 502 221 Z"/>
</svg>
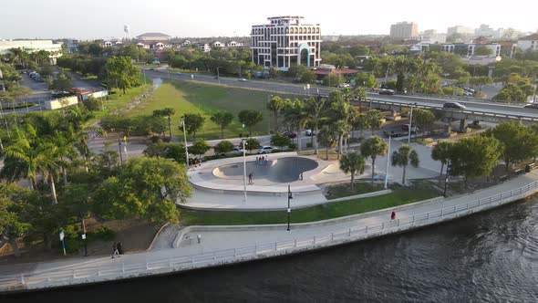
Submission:
<svg viewBox="0 0 538 303">
<path fill-rule="evenodd" d="M 319 164 L 311 159 L 285 157 L 269 160 L 267 164 L 246 162 L 246 174 L 253 173 L 253 180 L 265 179 L 271 183 L 291 183 L 299 180 L 302 172 L 312 171 Z M 217 167 L 213 175 L 222 179 L 243 180 L 243 162 Z"/>
</svg>

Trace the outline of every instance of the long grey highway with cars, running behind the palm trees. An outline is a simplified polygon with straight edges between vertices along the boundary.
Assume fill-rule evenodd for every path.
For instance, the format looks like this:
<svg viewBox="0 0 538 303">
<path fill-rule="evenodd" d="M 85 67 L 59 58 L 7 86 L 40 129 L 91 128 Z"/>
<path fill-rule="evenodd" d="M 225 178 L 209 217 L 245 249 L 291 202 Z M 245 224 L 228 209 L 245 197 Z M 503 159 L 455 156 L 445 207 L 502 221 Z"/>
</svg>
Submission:
<svg viewBox="0 0 538 303">
<path fill-rule="evenodd" d="M 331 91 L 336 89 L 311 86 L 310 89 L 305 90 L 305 86 L 302 84 L 282 83 L 269 80 L 245 80 L 240 81 L 238 78 L 227 78 L 209 75 L 194 74 L 191 78 L 191 74 L 177 72 L 169 72 L 168 70 L 145 70 L 146 76 L 150 78 L 172 78 L 180 80 L 194 80 L 205 83 L 221 84 L 224 86 L 244 89 L 262 89 L 268 92 L 275 93 L 292 93 L 305 96 L 316 96 L 318 93 L 321 95 L 328 95 Z M 522 105 L 512 104 L 498 104 L 491 101 L 480 99 L 448 99 L 439 97 L 421 97 L 421 96 L 403 96 L 403 95 L 379 95 L 378 93 L 368 93 L 368 99 L 375 99 L 381 101 L 389 101 L 395 103 L 417 103 L 421 106 L 433 107 L 442 109 L 442 105 L 445 102 L 458 101 L 464 105 L 467 109 L 477 112 L 494 113 L 494 114 L 509 114 L 513 116 L 529 117 L 538 119 L 538 110 L 523 109 Z"/>
</svg>

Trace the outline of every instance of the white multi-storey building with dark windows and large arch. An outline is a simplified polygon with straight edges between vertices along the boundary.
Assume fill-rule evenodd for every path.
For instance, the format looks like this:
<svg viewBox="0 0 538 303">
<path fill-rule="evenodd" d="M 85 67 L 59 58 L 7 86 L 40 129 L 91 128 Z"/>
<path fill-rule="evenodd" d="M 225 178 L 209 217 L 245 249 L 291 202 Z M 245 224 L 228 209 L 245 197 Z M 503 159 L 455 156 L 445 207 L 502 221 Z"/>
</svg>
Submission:
<svg viewBox="0 0 538 303">
<path fill-rule="evenodd" d="M 253 62 L 265 68 L 287 70 L 294 65 L 318 67 L 321 62 L 321 27 L 306 24 L 302 16 L 269 17 L 268 24 L 253 26 Z"/>
</svg>

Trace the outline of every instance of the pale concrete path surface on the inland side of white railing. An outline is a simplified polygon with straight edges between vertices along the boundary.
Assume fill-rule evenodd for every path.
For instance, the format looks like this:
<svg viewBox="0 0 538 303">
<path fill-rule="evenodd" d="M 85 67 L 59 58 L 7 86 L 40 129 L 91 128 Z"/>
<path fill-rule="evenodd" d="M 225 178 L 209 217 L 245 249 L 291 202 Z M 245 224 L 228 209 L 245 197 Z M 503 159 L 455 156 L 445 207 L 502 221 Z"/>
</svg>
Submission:
<svg viewBox="0 0 538 303">
<path fill-rule="evenodd" d="M 464 194 L 449 199 L 439 199 L 438 201 L 426 203 L 426 204 L 413 204 L 410 206 L 400 206 L 394 208 L 397 213 L 397 219 L 406 216 L 425 214 L 430 211 L 439 210 L 440 208 L 447 208 L 458 204 L 466 204 L 478 199 L 487 198 L 491 195 L 510 192 L 512 189 L 520 188 L 524 185 L 532 183 L 538 180 L 538 172 L 531 172 L 505 183 L 501 183 L 492 186 L 488 189 L 477 191 L 471 194 Z M 207 231 L 197 231 L 196 235 L 201 235 L 202 242 L 199 244 L 196 241 L 196 235 L 191 235 L 190 239 L 185 236 L 181 237 L 178 248 L 165 248 L 166 242 L 171 241 L 171 235 L 173 231 L 168 231 L 163 234 L 163 241 L 157 241 L 159 245 L 155 246 L 149 252 L 128 254 L 117 258 L 111 258 L 110 256 L 92 257 L 87 258 L 72 258 L 65 261 L 57 262 L 40 262 L 34 264 L 20 264 L 12 266 L 0 266 L 0 287 L 3 279 L 6 281 L 5 276 L 20 275 L 28 273 L 38 272 L 51 272 L 59 270 L 72 270 L 79 269 L 84 270 L 88 266 L 96 267 L 100 266 L 103 270 L 106 268 L 117 268 L 117 266 L 140 266 L 151 260 L 166 259 L 169 257 L 177 256 L 191 256 L 198 253 L 207 253 L 214 251 L 222 251 L 225 249 L 239 248 L 243 246 L 254 246 L 261 244 L 270 244 L 275 241 L 294 240 L 301 239 L 306 236 L 327 234 L 348 228 L 362 227 L 364 225 L 377 225 L 382 222 L 389 221 L 389 215 L 391 210 L 386 212 L 375 212 L 372 214 L 365 214 L 362 218 L 342 222 L 339 221 L 334 224 L 316 225 L 311 227 L 299 227 L 292 225 L 291 231 L 286 231 L 285 225 L 278 225 L 277 229 L 268 229 L 264 227 L 256 227 L 255 229 L 237 228 L 232 227 L 227 230 L 212 231 L 211 227 L 206 228 Z M 283 216 L 285 213 L 283 212 Z M 293 216 L 293 211 L 292 211 Z M 179 232 L 179 231 L 178 231 Z M 172 233 L 172 234 L 171 234 Z M 169 247 L 171 247 L 170 244 Z M 7 282 L 5 282 L 7 283 Z"/>
</svg>

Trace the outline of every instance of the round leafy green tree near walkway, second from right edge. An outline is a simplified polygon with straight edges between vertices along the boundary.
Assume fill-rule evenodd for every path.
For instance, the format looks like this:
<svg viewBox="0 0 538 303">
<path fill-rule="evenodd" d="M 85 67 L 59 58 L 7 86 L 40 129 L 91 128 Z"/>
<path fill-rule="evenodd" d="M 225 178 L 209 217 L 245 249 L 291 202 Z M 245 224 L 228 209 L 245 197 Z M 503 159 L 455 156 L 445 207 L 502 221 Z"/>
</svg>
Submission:
<svg viewBox="0 0 538 303">
<path fill-rule="evenodd" d="M 501 156 L 500 143 L 487 136 L 463 138 L 450 148 L 450 175 L 464 176 L 467 187 L 470 178 L 491 173 Z"/>
</svg>

